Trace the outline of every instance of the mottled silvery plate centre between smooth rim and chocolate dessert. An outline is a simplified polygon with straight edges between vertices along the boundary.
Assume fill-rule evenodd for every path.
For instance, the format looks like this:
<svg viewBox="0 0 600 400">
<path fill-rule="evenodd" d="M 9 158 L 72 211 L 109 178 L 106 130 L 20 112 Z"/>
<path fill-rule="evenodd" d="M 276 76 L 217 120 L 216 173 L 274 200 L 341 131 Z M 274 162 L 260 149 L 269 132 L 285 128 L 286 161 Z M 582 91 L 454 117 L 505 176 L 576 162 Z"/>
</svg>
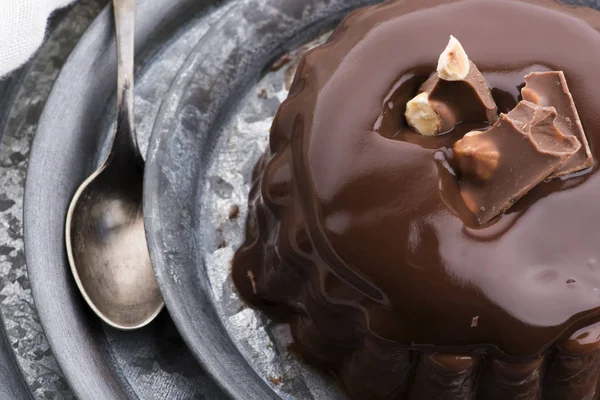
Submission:
<svg viewBox="0 0 600 400">
<path fill-rule="evenodd" d="M 216 227 L 214 235 L 203 235 L 201 251 L 214 308 L 240 353 L 282 398 L 341 400 L 345 396 L 335 378 L 288 352 L 291 337 L 286 324 L 275 324 L 260 310 L 247 307 L 231 280 L 230 263 L 244 240 L 251 166 L 265 150 L 273 115 L 287 97 L 286 76 L 295 70 L 304 49 L 327 36 L 290 53 L 284 68 L 269 72 L 240 99 L 235 115 L 217 130 L 214 156 L 206 159 L 206 187 L 197 200 L 201 225 Z M 239 210 L 238 215 L 232 210 Z"/>
</svg>

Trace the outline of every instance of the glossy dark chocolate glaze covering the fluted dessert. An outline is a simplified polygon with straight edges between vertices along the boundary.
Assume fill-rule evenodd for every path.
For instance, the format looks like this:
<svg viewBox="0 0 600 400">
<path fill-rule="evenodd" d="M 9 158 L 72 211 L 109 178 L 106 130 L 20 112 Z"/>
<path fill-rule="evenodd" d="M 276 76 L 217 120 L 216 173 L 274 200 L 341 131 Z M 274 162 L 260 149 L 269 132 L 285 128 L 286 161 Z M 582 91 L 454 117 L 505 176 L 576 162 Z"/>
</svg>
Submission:
<svg viewBox="0 0 600 400">
<path fill-rule="evenodd" d="M 600 13 L 552 0 L 407 0 L 351 14 L 303 58 L 274 120 L 234 260 L 240 293 L 290 321 L 301 352 L 355 398 L 404 396 L 432 352 L 473 357 L 449 372 L 463 398 L 474 396 L 473 373 L 488 382 L 486 399 L 539 398 L 556 382 L 550 372 L 569 373 L 559 352 L 597 380 L 600 339 L 585 354 L 557 345 L 600 321 L 597 167 L 538 185 L 479 227 L 450 149 L 488 124 L 422 137 L 402 116 L 452 34 L 500 111 L 528 72 L 564 71 L 600 154 L 598 28 Z"/>
</svg>

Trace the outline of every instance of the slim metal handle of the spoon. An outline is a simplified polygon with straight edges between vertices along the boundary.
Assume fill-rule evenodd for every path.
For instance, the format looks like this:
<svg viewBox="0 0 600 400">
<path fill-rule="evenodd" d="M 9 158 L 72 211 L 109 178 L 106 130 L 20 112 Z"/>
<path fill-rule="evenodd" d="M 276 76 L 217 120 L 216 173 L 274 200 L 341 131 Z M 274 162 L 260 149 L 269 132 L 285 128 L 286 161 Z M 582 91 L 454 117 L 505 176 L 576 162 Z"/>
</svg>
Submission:
<svg viewBox="0 0 600 400">
<path fill-rule="evenodd" d="M 112 153 L 134 154 L 141 160 L 133 112 L 135 0 L 113 0 L 113 7 L 117 38 L 117 122 Z"/>
</svg>

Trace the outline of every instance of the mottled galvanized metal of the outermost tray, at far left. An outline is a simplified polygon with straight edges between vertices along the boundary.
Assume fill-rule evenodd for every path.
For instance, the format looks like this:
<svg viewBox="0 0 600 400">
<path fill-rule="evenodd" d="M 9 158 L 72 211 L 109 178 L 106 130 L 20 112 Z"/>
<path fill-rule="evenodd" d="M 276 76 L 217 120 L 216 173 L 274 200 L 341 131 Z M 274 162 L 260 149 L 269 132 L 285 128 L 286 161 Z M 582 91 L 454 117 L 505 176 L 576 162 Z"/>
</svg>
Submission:
<svg viewBox="0 0 600 400">
<path fill-rule="evenodd" d="M 23 249 L 23 192 L 30 143 L 60 67 L 104 1 L 82 0 L 61 18 L 35 58 L 11 77 L 0 146 L 0 312 L 35 398 L 72 399 L 40 325 Z M 8 90 L 7 90 L 8 91 Z M 3 100 L 6 100 L 4 98 Z"/>
</svg>

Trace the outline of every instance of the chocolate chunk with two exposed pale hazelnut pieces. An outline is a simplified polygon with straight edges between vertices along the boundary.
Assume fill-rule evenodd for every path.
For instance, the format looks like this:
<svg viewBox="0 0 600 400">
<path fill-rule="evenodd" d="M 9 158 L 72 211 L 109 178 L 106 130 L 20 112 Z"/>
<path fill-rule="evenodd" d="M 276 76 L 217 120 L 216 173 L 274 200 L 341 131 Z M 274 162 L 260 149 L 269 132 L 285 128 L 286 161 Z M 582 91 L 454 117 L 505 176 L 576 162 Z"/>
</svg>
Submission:
<svg viewBox="0 0 600 400">
<path fill-rule="evenodd" d="M 407 103 L 405 116 L 414 130 L 430 136 L 448 132 L 461 122 L 494 123 L 498 107 L 485 78 L 451 36 L 437 72 Z"/>
</svg>

